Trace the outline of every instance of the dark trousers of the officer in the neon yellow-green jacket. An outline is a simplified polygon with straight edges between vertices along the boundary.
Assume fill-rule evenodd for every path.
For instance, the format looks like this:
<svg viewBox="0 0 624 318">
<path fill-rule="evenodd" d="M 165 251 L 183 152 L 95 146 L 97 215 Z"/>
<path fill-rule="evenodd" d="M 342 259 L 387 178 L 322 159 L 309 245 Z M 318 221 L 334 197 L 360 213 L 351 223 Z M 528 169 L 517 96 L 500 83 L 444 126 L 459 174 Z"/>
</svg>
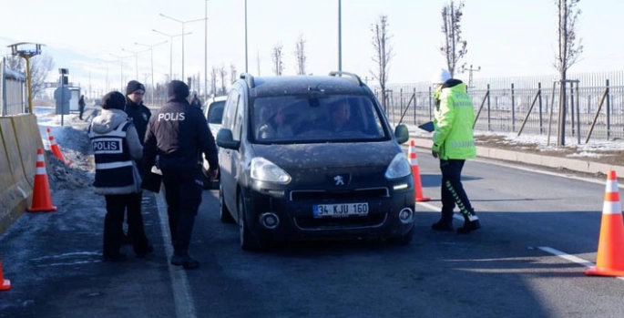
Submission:
<svg viewBox="0 0 624 318">
<path fill-rule="evenodd" d="M 470 204 L 468 195 L 465 193 L 462 184 L 462 169 L 465 160 L 440 159 L 440 170 L 442 171 L 442 220 L 445 223 L 453 221 L 453 210 L 455 205 L 464 216 L 465 221 L 469 221 L 471 216 L 475 216 L 475 210 Z"/>
</svg>

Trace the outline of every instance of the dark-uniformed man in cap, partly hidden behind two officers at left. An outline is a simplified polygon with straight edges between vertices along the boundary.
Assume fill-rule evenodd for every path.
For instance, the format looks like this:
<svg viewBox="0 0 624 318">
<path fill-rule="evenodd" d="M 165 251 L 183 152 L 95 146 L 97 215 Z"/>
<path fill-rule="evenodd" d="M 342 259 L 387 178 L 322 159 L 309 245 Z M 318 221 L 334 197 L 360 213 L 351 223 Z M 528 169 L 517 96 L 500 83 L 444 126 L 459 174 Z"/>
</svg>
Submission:
<svg viewBox="0 0 624 318">
<path fill-rule="evenodd" d="M 141 141 L 141 146 L 143 146 L 143 140 L 145 139 L 145 132 L 148 130 L 148 121 L 151 117 L 151 111 L 143 104 L 143 96 L 145 95 L 145 86 L 139 83 L 136 80 L 131 80 L 128 82 L 128 86 L 126 87 L 126 114 L 128 114 L 128 119 L 132 121 L 134 127 L 137 128 L 138 139 Z M 143 177 L 143 169 L 141 167 L 140 160 L 137 161 L 138 170 L 141 173 L 141 177 Z M 141 200 L 143 196 L 142 193 L 139 193 L 138 199 L 138 207 L 141 206 Z M 128 226 L 128 234 L 124 235 L 122 241 L 124 243 L 132 243 L 133 237 L 132 231 Z"/>
</svg>

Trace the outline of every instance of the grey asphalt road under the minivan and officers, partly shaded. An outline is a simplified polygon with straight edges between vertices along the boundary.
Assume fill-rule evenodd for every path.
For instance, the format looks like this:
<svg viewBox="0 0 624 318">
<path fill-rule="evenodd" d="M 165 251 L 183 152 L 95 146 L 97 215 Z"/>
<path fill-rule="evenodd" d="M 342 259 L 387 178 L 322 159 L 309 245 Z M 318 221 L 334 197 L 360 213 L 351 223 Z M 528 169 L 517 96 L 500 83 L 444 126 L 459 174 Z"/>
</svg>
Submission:
<svg viewBox="0 0 624 318">
<path fill-rule="evenodd" d="M 45 216 L 56 222 L 34 228 L 28 216 L 19 231 L 0 238 L 0 255 L 10 260 L 5 275 L 15 285 L 0 293 L 0 317 L 622 316 L 624 280 L 585 276 L 582 264 L 552 253 L 595 262 L 605 180 L 470 161 L 464 185 L 483 229 L 439 233 L 430 230 L 439 218 L 437 163 L 418 155 L 425 195 L 433 200 L 418 205 L 408 247 L 327 241 L 241 251 L 238 227 L 220 223 L 217 192 L 205 191 L 191 246 L 202 267 L 183 272 L 166 265 L 164 207 L 160 201 L 157 210 L 153 197 L 146 199 L 146 222 L 157 251 L 147 261 L 97 262 L 101 211 L 90 218 L 70 218 L 78 208 L 66 211 L 62 222 Z M 76 224 L 83 231 L 54 235 Z M 25 243 L 31 240 L 33 251 Z M 52 260 L 68 251 L 95 256 L 57 265 L 54 278 L 49 263 L 46 274 L 35 272 L 42 264 L 36 253 Z"/>
</svg>

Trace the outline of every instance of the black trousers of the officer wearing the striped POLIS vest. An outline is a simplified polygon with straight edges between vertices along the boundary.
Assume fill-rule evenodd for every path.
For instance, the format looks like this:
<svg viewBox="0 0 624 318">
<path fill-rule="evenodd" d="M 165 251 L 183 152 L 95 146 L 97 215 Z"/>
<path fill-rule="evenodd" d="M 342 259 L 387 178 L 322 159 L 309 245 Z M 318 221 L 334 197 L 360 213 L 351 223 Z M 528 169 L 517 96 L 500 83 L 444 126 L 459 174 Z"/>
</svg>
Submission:
<svg viewBox="0 0 624 318">
<path fill-rule="evenodd" d="M 134 251 L 145 252 L 148 249 L 148 237 L 143 227 L 141 193 L 106 195 L 104 198 L 107 202 L 107 215 L 104 218 L 104 255 L 115 256 L 119 253 L 126 210 L 128 210 L 128 231 L 133 235 Z"/>
</svg>

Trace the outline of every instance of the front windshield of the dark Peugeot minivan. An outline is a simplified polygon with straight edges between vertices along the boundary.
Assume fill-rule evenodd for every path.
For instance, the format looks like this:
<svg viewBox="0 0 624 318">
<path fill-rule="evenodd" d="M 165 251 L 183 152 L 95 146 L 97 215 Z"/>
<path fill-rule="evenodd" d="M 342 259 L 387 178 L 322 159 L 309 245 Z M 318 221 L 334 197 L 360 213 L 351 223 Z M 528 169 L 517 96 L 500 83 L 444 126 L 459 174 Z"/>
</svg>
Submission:
<svg viewBox="0 0 624 318">
<path fill-rule="evenodd" d="M 367 96 L 280 96 L 252 100 L 251 128 L 258 143 L 345 142 L 389 137 Z"/>
</svg>

